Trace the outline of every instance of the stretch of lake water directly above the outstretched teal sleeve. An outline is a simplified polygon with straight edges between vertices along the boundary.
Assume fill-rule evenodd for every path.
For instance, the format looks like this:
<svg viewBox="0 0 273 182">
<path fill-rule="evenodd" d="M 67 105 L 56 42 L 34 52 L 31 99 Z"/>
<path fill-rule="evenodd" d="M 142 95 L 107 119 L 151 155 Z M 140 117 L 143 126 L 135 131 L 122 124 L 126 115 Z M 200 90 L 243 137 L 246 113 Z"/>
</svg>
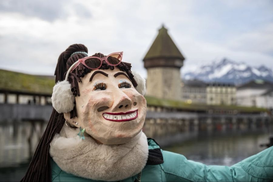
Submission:
<svg viewBox="0 0 273 182">
<path fill-rule="evenodd" d="M 207 165 L 231 166 L 266 149 L 259 146 L 261 143 L 268 143 L 268 133 L 265 130 L 213 135 L 202 133 L 193 140 L 176 143 L 163 149 L 183 154 L 188 160 Z"/>
</svg>

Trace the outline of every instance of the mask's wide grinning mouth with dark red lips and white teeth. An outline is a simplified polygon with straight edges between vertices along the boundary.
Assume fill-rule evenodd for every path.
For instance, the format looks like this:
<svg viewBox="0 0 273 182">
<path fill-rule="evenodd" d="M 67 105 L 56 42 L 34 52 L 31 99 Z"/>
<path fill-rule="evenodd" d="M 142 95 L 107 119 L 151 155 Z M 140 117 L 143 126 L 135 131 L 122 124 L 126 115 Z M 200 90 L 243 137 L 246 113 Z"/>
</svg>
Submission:
<svg viewBox="0 0 273 182">
<path fill-rule="evenodd" d="M 103 118 L 109 121 L 131 121 L 138 116 L 137 110 L 129 111 L 126 113 L 103 113 Z"/>
</svg>

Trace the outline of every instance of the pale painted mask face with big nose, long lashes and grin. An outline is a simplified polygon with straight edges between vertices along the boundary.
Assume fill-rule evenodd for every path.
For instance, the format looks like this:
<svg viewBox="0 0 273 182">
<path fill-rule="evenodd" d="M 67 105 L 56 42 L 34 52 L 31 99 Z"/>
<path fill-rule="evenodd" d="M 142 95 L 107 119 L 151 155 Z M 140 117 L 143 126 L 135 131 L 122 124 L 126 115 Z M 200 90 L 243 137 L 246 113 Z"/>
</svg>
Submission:
<svg viewBox="0 0 273 182">
<path fill-rule="evenodd" d="M 79 83 L 75 97 L 78 117 L 73 118 L 86 133 L 107 145 L 130 141 L 142 130 L 146 99 L 136 91 L 126 72 L 91 71 Z"/>
</svg>

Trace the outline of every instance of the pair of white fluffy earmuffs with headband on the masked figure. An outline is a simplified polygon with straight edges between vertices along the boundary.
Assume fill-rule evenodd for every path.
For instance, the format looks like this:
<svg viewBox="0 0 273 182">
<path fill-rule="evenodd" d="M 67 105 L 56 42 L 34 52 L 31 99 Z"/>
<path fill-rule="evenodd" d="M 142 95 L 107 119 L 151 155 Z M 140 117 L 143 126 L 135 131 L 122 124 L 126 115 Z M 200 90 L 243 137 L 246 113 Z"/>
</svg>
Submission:
<svg viewBox="0 0 273 182">
<path fill-rule="evenodd" d="M 53 93 L 51 97 L 52 106 L 58 113 L 68 113 L 72 111 L 75 106 L 75 97 L 71 91 L 71 84 L 69 83 L 69 81 L 67 81 L 67 79 L 71 69 L 77 64 L 77 62 L 79 61 L 76 61 L 67 70 L 65 80 L 56 83 L 56 85 L 53 87 Z M 133 71 L 132 73 L 134 75 L 136 83 L 138 84 L 136 90 L 141 95 L 144 95 L 146 90 L 145 79 L 143 79 L 137 72 Z"/>
</svg>

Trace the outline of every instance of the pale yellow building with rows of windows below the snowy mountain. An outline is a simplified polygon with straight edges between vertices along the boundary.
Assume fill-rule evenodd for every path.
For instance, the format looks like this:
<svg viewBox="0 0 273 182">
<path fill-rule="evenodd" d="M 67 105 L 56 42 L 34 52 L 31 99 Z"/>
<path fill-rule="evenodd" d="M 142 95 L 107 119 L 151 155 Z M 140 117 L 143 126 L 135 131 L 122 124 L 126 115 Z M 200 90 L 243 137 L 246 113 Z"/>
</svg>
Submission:
<svg viewBox="0 0 273 182">
<path fill-rule="evenodd" d="M 236 87 L 230 83 L 208 83 L 208 105 L 236 105 Z"/>
</svg>

